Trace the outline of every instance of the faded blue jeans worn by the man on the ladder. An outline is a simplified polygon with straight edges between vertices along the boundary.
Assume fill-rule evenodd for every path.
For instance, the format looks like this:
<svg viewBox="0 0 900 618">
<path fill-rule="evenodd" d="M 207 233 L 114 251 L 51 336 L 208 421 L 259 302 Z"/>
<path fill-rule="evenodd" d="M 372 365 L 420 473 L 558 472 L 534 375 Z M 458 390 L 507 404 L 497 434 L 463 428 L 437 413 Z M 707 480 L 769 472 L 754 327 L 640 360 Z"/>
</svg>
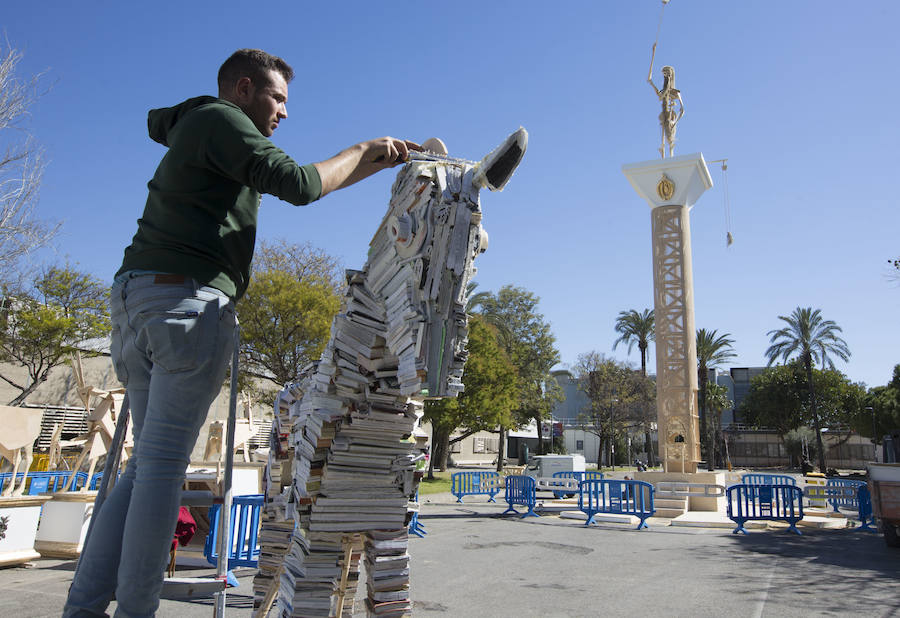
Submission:
<svg viewBox="0 0 900 618">
<path fill-rule="evenodd" d="M 234 304 L 172 275 L 132 274 L 112 287 L 111 352 L 128 390 L 134 449 L 94 526 L 63 616 L 153 616 L 185 470 L 233 350 Z"/>
</svg>

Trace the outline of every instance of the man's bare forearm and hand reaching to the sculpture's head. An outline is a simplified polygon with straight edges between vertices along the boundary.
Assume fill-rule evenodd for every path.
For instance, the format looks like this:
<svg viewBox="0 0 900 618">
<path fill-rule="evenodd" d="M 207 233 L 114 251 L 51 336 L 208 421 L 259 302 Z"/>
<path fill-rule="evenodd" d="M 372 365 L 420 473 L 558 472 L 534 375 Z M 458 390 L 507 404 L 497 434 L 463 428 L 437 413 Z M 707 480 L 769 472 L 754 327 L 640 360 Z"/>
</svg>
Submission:
<svg viewBox="0 0 900 618">
<path fill-rule="evenodd" d="M 330 159 L 314 163 L 322 180 L 322 195 L 343 189 L 367 178 L 375 172 L 406 161 L 410 150 L 421 146 L 393 137 L 360 142 L 342 150 Z"/>
</svg>

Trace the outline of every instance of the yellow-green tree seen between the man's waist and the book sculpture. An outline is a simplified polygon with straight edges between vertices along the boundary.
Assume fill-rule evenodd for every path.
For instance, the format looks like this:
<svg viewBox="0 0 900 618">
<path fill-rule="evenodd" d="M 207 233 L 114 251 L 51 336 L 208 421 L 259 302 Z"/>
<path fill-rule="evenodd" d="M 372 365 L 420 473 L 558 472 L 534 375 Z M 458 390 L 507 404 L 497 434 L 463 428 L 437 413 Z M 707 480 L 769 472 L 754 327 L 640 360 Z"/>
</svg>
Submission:
<svg viewBox="0 0 900 618">
<path fill-rule="evenodd" d="M 320 249 L 260 243 L 237 305 L 242 389 L 268 398 L 319 358 L 340 308 L 341 285 L 337 260 Z"/>
</svg>

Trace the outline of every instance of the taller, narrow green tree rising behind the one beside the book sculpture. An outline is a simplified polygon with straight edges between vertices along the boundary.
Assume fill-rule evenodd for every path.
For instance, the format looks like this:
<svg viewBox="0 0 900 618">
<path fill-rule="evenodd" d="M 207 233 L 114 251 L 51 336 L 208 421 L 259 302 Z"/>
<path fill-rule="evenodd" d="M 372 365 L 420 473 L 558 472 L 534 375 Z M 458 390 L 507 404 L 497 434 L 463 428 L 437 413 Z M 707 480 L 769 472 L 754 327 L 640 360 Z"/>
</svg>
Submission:
<svg viewBox="0 0 900 618">
<path fill-rule="evenodd" d="M 550 416 L 554 403 L 562 399 L 561 390 L 550 370 L 559 363 L 556 338 L 550 324 L 537 311 L 539 298 L 524 288 L 505 285 L 481 302 L 485 320 L 498 326 L 501 346 L 516 367 L 519 376 L 519 404 L 515 411 L 517 424 L 537 422 L 538 444 L 543 453 L 541 421 Z M 500 443 L 505 441 L 501 426 Z M 502 465 L 498 457 L 498 469 Z"/>
</svg>

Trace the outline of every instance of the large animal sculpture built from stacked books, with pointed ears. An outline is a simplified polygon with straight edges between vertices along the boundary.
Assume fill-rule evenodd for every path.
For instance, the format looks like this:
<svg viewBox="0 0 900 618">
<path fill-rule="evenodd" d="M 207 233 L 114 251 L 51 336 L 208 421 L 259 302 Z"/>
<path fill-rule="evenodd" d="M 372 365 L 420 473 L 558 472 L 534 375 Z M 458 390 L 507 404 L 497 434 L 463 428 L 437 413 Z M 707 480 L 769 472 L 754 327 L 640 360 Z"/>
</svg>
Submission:
<svg viewBox="0 0 900 618">
<path fill-rule="evenodd" d="M 281 616 L 352 608 L 363 553 L 368 612 L 411 612 L 407 507 L 421 455 L 410 436 L 425 399 L 463 390 L 467 284 L 487 249 L 479 192 L 503 188 L 527 141 L 519 129 L 479 163 L 412 153 L 398 173 L 321 359 L 276 400 L 260 615 L 276 590 Z"/>
</svg>

